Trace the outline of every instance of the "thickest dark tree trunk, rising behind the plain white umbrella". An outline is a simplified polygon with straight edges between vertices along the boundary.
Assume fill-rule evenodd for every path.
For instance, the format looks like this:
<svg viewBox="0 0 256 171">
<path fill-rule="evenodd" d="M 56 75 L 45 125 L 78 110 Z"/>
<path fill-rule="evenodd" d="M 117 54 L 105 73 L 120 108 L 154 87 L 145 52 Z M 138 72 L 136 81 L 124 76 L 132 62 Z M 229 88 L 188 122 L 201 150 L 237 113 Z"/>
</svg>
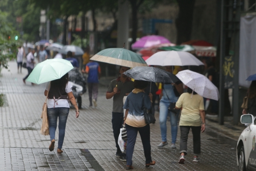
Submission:
<svg viewBox="0 0 256 171">
<path fill-rule="evenodd" d="M 175 21 L 177 28 L 177 44 L 191 39 L 193 11 L 195 0 L 177 0 L 179 14 Z"/>
</svg>

